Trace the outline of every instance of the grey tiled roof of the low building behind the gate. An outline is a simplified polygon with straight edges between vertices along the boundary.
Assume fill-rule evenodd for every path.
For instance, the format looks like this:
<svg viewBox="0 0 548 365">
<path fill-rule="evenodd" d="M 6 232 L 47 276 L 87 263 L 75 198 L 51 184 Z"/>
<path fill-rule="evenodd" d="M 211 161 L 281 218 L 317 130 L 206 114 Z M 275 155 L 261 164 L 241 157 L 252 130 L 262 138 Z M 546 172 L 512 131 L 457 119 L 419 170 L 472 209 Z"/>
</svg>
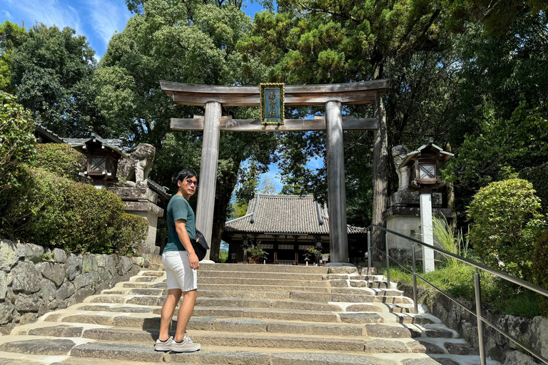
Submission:
<svg viewBox="0 0 548 365">
<path fill-rule="evenodd" d="M 347 227 L 349 234 L 365 232 Z M 312 195 L 255 194 L 246 215 L 226 222 L 225 232 L 329 235 L 328 207 Z"/>
</svg>

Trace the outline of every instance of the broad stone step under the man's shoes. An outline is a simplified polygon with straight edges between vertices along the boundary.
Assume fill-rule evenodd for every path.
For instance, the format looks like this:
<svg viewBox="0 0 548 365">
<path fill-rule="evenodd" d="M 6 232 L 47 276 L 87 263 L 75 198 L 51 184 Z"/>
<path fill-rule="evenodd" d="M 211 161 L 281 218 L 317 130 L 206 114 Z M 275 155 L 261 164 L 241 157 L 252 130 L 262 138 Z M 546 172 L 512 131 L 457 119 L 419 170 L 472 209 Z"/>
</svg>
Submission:
<svg viewBox="0 0 548 365">
<path fill-rule="evenodd" d="M 146 339 L 149 334 L 144 333 L 143 339 Z M 93 334 L 91 332 L 90 334 Z M 29 339 L 29 336 L 21 336 L 22 339 L 16 341 L 3 341 L 0 344 L 0 351 L 6 353 L 17 354 L 49 354 L 49 355 L 68 355 L 71 357 L 84 357 L 91 359 L 109 359 L 110 361 L 141 361 L 141 362 L 191 362 L 192 364 L 275 364 L 272 357 L 279 354 L 290 354 L 291 349 L 305 349 L 307 352 L 317 349 L 327 351 L 322 353 L 322 356 L 328 354 L 333 355 L 349 355 L 342 354 L 338 351 L 350 349 L 352 354 L 360 356 L 361 363 L 355 364 L 371 364 L 366 354 L 448 354 L 449 349 L 455 349 L 456 346 L 440 346 L 432 341 L 417 341 L 415 339 L 401 340 L 383 340 L 383 339 L 339 339 L 335 347 L 343 350 L 325 349 L 323 346 L 329 346 L 329 341 L 333 339 L 328 337 L 299 337 L 299 336 L 265 336 L 253 335 L 242 336 L 238 334 L 196 334 L 193 337 L 202 344 L 202 349 L 191 354 L 175 354 L 173 352 L 154 351 L 152 341 L 147 343 L 139 343 L 140 338 L 126 339 L 126 341 L 113 341 L 113 337 L 118 339 L 123 338 L 119 331 L 113 331 L 110 334 L 98 333 L 97 336 L 106 336 L 103 341 L 86 341 L 85 339 L 64 338 L 56 339 L 54 337 L 42 337 Z M 13 336 L 10 336 L 13 337 Z M 207 344 L 206 342 L 216 341 L 217 344 Z M 218 344 L 218 343 L 221 343 Z M 223 345 L 228 344 L 228 345 Z M 270 347 L 254 346 L 257 344 L 269 344 Z M 251 345 L 251 346 L 248 346 Z M 237 347 L 237 349 L 234 349 Z M 257 353 L 253 348 L 258 350 Z M 278 352 L 283 349 L 283 352 Z M 246 351 L 247 350 L 247 351 Z M 253 354 L 250 356 L 248 354 Z M 318 353 L 316 353 L 318 354 Z M 318 354 L 320 355 L 320 354 Z M 168 356 L 168 357 L 166 357 Z M 216 357 L 215 357 L 216 356 Z M 370 355 L 368 355 L 370 356 Z M 311 359 L 312 357 L 308 357 Z M 381 357 L 382 359 L 382 357 Z M 250 362 L 243 362 L 250 361 Z M 390 364 L 387 359 L 383 359 L 382 364 Z M 313 363 L 314 364 L 314 363 Z M 315 364 L 325 364 L 316 362 Z M 375 363 L 376 364 L 376 363 Z M 394 363 L 397 364 L 397 363 Z M 405 364 L 405 362 L 404 362 Z"/>
</svg>

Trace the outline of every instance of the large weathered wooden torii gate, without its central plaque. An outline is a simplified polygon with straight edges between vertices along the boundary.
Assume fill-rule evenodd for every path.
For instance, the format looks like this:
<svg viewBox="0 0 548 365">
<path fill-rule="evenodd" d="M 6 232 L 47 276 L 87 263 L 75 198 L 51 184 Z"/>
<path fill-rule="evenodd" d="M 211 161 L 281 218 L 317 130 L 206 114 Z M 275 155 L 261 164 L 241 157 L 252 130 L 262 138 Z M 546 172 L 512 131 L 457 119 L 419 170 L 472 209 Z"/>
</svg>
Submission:
<svg viewBox="0 0 548 365">
<path fill-rule="evenodd" d="M 213 208 L 219 155 L 220 131 L 308 131 L 325 130 L 327 150 L 328 212 L 330 259 L 348 262 L 346 225 L 345 161 L 342 130 L 376 130 L 376 118 L 342 115 L 343 105 L 372 104 L 377 93 L 385 93 L 390 81 L 375 80 L 328 85 L 285 86 L 286 106 L 325 105 L 325 117 L 285 119 L 283 125 L 263 125 L 259 119 L 232 119 L 221 116 L 224 106 L 260 106 L 259 86 L 210 86 L 160 81 L 162 90 L 173 101 L 186 106 L 205 106 L 205 116 L 171 118 L 173 130 L 203 130 L 200 189 L 196 228 L 211 241 Z M 205 259 L 209 259 L 209 252 Z"/>
</svg>

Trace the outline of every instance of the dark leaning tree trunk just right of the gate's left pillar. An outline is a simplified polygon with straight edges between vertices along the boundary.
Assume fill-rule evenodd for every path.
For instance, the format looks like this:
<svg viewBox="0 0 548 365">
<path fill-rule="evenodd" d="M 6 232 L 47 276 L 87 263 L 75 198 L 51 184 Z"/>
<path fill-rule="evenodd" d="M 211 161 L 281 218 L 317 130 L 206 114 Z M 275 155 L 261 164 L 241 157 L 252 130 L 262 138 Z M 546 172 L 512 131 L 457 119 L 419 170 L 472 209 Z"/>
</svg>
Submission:
<svg viewBox="0 0 548 365">
<path fill-rule="evenodd" d="M 213 230 L 211 232 L 211 243 L 209 259 L 219 262 L 220 239 L 225 230 L 225 220 L 230 197 L 236 183 L 238 182 L 238 170 L 227 171 L 223 178 L 217 180 L 217 191 L 215 192 L 215 210 L 213 211 Z"/>
</svg>

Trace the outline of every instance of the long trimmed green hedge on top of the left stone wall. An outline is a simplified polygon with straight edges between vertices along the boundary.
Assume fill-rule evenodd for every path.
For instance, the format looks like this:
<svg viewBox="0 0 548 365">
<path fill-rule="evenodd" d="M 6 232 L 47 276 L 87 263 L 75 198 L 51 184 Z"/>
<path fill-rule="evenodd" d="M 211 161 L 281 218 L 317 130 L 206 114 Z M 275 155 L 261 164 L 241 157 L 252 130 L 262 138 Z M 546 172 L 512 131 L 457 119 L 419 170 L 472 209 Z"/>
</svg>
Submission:
<svg viewBox="0 0 548 365">
<path fill-rule="evenodd" d="M 25 165 L 20 177 L 19 186 L 0 194 L 4 237 L 68 252 L 121 255 L 133 255 L 146 237 L 146 219 L 127 217 L 121 199 L 108 190 Z"/>
</svg>

